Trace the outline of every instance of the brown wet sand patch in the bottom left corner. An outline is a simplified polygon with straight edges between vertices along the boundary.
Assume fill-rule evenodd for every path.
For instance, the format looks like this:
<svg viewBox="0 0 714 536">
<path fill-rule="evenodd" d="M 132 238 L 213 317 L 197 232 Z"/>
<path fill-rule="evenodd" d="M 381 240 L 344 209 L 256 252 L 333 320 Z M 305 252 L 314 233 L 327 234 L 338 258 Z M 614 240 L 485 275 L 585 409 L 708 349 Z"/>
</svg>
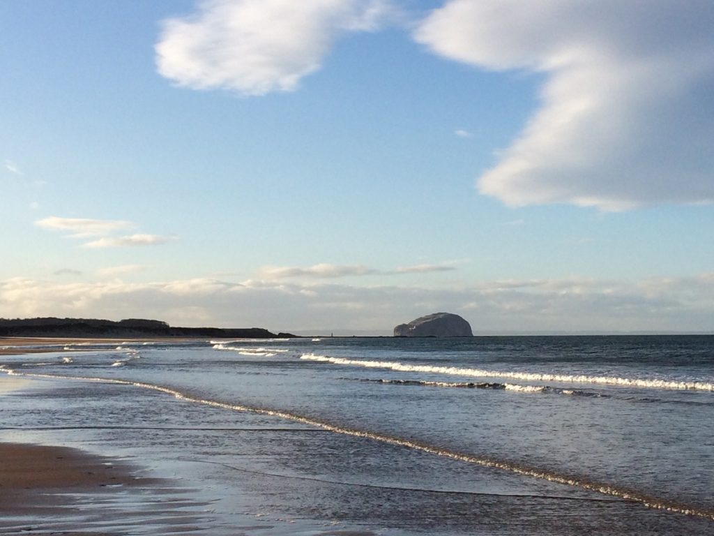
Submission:
<svg viewBox="0 0 714 536">
<path fill-rule="evenodd" d="M 3 535 L 203 534 L 207 503 L 189 492 L 83 450 L 0 443 Z"/>
</svg>

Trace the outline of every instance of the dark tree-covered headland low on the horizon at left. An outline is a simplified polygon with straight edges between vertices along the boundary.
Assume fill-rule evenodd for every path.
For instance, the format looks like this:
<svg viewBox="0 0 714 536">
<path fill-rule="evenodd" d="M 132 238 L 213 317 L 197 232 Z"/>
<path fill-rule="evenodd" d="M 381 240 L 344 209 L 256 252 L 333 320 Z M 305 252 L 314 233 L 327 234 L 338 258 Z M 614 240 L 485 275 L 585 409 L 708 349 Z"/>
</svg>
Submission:
<svg viewBox="0 0 714 536">
<path fill-rule="evenodd" d="M 0 318 L 0 337 L 215 337 L 215 338 L 275 338 L 297 337 L 291 333 L 272 333 L 261 327 L 171 327 L 161 320 L 130 318 L 102 320 L 86 318 Z"/>
</svg>

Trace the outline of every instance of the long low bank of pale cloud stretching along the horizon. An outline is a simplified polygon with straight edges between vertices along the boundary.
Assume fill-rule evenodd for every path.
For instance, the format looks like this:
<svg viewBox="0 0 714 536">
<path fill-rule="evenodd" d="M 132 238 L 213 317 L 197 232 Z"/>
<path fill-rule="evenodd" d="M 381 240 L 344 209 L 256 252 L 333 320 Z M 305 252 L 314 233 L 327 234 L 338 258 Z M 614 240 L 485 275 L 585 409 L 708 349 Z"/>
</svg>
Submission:
<svg viewBox="0 0 714 536">
<path fill-rule="evenodd" d="M 388 334 L 436 311 L 492 330 L 714 331 L 714 274 L 603 281 L 538 279 L 468 287 L 354 287 L 276 281 L 0 281 L 0 317 L 149 317 L 174 325 Z"/>
</svg>

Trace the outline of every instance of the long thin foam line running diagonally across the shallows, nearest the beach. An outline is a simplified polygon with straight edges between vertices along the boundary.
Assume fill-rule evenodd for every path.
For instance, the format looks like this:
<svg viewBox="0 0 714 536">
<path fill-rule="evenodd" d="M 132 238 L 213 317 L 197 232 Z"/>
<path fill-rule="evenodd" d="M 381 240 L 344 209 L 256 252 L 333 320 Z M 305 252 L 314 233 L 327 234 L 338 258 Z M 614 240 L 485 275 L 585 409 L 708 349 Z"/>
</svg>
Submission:
<svg viewBox="0 0 714 536">
<path fill-rule="evenodd" d="M 548 480 L 548 482 L 555 482 L 558 484 L 568 485 L 570 487 L 578 487 L 582 490 L 598 492 L 603 495 L 610 495 L 611 497 L 620 497 L 620 499 L 627 500 L 630 502 L 638 502 L 645 507 L 653 508 L 655 510 L 665 510 L 667 512 L 685 514 L 695 517 L 703 517 L 705 519 L 714 521 L 714 510 L 703 510 L 697 507 L 688 507 L 686 505 L 670 502 L 668 500 L 661 500 L 656 497 L 650 497 L 649 495 L 645 495 L 643 493 L 636 492 L 633 490 L 626 490 L 624 488 L 615 487 L 602 482 L 593 482 L 580 477 L 563 475 L 557 472 L 549 472 L 546 470 L 538 469 L 537 467 L 528 467 L 527 465 L 521 465 L 514 462 L 506 462 L 502 460 L 495 460 L 489 457 L 480 457 L 476 455 L 466 454 L 463 452 L 455 452 L 443 449 L 441 447 L 436 447 L 434 445 L 428 445 L 427 443 L 407 440 L 401 437 L 393 437 L 377 432 L 367 432 L 365 430 L 355 430 L 351 428 L 341 427 L 338 425 L 333 425 L 329 422 L 314 419 L 312 417 L 305 417 L 303 415 L 297 415 L 282 410 L 273 410 L 264 407 L 251 407 L 240 404 L 231 404 L 228 402 L 220 402 L 217 400 L 198 398 L 191 396 L 190 394 L 178 391 L 178 389 L 172 389 L 171 387 L 164 387 L 162 385 L 150 384 L 145 382 L 132 382 L 127 379 L 16 372 L 14 369 L 9 369 L 5 365 L 0 365 L 0 372 L 5 372 L 9 376 L 26 376 L 51 379 L 74 379 L 84 382 L 100 382 L 140 387 L 141 389 L 149 389 L 156 392 L 170 394 L 176 399 L 182 400 L 184 402 L 192 402 L 194 404 L 201 404 L 209 407 L 218 407 L 223 410 L 252 413 L 254 415 L 268 415 L 270 417 L 278 417 L 281 419 L 290 420 L 292 422 L 299 422 L 303 425 L 318 427 L 322 430 L 327 430 L 328 432 L 334 432 L 336 434 L 348 435 L 351 437 L 361 437 L 363 439 L 381 442 L 386 445 L 406 447 L 410 450 L 415 450 L 417 452 L 426 452 L 428 454 L 441 456 L 451 460 L 457 460 L 473 465 L 479 465 L 481 467 L 491 467 L 495 469 L 500 469 L 515 473 L 516 475 L 538 478 L 540 480 Z"/>
</svg>

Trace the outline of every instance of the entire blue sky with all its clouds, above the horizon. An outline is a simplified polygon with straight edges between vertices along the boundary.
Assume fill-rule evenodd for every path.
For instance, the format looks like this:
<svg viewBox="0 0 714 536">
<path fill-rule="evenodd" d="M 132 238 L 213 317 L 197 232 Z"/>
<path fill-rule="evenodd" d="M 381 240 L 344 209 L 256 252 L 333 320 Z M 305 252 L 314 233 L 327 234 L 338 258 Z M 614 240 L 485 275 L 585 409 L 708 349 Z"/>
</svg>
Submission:
<svg viewBox="0 0 714 536">
<path fill-rule="evenodd" d="M 4 0 L 0 317 L 714 332 L 714 4 Z"/>
</svg>

